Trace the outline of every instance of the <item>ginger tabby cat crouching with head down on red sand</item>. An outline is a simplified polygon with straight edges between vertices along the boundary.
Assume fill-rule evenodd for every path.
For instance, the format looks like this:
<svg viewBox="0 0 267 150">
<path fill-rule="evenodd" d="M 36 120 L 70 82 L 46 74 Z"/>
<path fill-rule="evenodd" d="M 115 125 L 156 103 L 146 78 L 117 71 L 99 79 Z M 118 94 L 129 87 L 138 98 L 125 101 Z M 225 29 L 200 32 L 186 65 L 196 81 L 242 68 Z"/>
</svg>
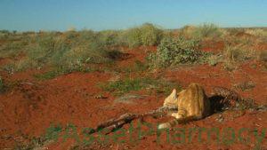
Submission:
<svg viewBox="0 0 267 150">
<path fill-rule="evenodd" d="M 181 122 L 198 120 L 210 114 L 210 101 L 206 97 L 203 87 L 198 83 L 190 83 L 186 90 L 177 94 L 174 91 L 164 101 L 164 107 L 178 107 L 178 112 L 173 113 L 174 120 L 159 124 L 158 129 L 171 128 Z"/>
</svg>

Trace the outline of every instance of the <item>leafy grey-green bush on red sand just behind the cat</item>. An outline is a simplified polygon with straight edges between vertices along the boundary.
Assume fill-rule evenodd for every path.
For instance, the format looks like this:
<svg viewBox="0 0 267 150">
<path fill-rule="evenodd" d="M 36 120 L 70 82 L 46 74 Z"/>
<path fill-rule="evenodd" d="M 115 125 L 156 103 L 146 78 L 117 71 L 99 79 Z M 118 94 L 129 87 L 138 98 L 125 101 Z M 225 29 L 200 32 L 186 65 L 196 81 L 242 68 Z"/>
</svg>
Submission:
<svg viewBox="0 0 267 150">
<path fill-rule="evenodd" d="M 199 51 L 198 40 L 178 37 L 163 39 L 157 52 L 151 53 L 148 59 L 154 67 L 168 67 L 200 62 L 203 56 L 204 53 Z"/>
</svg>

